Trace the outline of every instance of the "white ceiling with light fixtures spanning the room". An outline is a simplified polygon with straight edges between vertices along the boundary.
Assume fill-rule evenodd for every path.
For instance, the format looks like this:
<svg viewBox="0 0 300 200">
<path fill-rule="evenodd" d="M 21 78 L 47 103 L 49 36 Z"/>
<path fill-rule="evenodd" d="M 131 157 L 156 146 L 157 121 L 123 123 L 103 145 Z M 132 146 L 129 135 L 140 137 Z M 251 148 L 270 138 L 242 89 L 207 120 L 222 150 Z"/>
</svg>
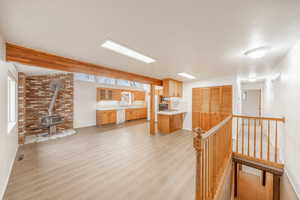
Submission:
<svg viewBox="0 0 300 200">
<path fill-rule="evenodd" d="M 18 45 L 156 78 L 266 73 L 300 38 L 299 0 L 1 0 L 0 29 Z M 101 48 L 113 40 L 157 60 Z M 243 53 L 272 47 L 263 59 Z M 181 79 L 184 80 L 184 79 Z"/>
</svg>

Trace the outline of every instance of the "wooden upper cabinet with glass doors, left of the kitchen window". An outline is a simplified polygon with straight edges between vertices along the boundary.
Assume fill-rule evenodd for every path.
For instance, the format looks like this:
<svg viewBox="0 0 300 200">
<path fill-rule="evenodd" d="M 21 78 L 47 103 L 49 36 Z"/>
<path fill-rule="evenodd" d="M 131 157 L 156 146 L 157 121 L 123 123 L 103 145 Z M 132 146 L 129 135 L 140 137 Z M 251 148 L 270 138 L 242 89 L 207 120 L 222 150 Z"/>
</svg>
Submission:
<svg viewBox="0 0 300 200">
<path fill-rule="evenodd" d="M 97 101 L 120 101 L 121 90 L 112 88 L 97 88 Z"/>
</svg>

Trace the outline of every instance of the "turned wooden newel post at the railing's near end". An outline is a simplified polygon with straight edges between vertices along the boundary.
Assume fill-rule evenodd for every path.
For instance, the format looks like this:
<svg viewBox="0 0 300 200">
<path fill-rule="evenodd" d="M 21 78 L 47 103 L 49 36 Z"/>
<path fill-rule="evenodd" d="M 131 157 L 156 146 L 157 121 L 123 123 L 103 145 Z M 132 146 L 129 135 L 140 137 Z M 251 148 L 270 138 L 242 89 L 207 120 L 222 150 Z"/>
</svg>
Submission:
<svg viewBox="0 0 300 200">
<path fill-rule="evenodd" d="M 194 137 L 194 148 L 196 150 L 196 193 L 195 200 L 201 200 L 203 196 L 202 184 L 203 184 L 203 131 L 200 128 L 194 129 L 197 134 Z"/>
</svg>

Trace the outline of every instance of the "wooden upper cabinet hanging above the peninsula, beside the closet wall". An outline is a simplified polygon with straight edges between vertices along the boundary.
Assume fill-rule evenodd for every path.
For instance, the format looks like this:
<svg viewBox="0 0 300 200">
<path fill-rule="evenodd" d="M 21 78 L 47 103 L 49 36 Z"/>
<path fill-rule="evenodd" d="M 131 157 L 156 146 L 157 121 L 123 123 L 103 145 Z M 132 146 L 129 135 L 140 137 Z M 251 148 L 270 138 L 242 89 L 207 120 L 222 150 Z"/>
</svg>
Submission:
<svg viewBox="0 0 300 200">
<path fill-rule="evenodd" d="M 163 96 L 182 97 L 182 82 L 173 79 L 164 79 Z"/>
</svg>

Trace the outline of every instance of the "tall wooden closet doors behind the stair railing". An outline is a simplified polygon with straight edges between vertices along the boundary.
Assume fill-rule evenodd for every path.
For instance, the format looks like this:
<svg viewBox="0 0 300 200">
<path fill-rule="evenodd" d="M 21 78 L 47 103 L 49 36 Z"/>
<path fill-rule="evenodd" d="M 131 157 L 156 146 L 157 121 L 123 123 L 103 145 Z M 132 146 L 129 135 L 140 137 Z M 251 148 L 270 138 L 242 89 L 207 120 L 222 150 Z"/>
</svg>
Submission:
<svg viewBox="0 0 300 200">
<path fill-rule="evenodd" d="M 192 127 L 204 131 L 232 114 L 232 86 L 193 88 Z"/>
</svg>

